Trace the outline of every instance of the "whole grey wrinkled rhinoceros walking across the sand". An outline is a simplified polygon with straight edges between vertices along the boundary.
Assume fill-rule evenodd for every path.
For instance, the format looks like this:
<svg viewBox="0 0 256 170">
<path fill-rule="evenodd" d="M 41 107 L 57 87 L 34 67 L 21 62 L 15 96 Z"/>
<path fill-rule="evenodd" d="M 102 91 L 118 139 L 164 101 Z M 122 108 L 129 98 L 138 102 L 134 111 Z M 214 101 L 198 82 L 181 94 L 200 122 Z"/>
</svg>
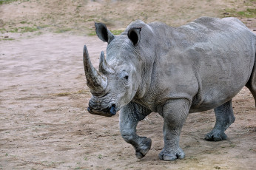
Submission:
<svg viewBox="0 0 256 170">
<path fill-rule="evenodd" d="M 142 158 L 151 139 L 136 126 L 151 112 L 164 118 L 161 160 L 182 159 L 181 128 L 189 113 L 215 110 L 216 123 L 205 140 L 225 140 L 235 121 L 232 98 L 247 86 L 256 99 L 256 36 L 237 18 L 198 18 L 181 27 L 134 21 L 114 36 L 104 24 L 96 33 L 108 43 L 99 71 L 84 47 L 84 69 L 92 92 L 88 111 L 120 112 L 121 135 Z"/>
</svg>

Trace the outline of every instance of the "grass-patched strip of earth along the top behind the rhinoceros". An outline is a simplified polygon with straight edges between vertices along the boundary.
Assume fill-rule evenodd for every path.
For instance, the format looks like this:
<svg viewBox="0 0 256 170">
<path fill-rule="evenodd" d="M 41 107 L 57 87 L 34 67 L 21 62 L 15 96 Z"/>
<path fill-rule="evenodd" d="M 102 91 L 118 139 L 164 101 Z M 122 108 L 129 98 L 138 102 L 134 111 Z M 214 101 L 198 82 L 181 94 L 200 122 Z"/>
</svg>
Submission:
<svg viewBox="0 0 256 170">
<path fill-rule="evenodd" d="M 256 29 L 255 7 L 255 0 L 0 0 L 0 33 L 95 35 L 94 22 L 120 33 L 136 19 L 177 27 L 201 16 L 235 16 Z"/>
</svg>

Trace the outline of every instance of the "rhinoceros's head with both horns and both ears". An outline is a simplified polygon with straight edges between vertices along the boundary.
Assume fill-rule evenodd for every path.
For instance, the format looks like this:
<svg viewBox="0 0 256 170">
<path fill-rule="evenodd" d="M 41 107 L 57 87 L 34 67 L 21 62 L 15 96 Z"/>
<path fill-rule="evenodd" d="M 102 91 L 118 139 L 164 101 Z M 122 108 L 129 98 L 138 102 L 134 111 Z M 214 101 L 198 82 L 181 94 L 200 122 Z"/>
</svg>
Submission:
<svg viewBox="0 0 256 170">
<path fill-rule="evenodd" d="M 84 72 L 92 98 L 88 111 L 95 115 L 112 116 L 132 101 L 140 82 L 138 43 L 141 28 L 132 28 L 124 35 L 113 35 L 105 24 L 95 23 L 98 38 L 108 43 L 107 58 L 100 55 L 99 69 L 90 61 L 84 46 Z"/>
</svg>

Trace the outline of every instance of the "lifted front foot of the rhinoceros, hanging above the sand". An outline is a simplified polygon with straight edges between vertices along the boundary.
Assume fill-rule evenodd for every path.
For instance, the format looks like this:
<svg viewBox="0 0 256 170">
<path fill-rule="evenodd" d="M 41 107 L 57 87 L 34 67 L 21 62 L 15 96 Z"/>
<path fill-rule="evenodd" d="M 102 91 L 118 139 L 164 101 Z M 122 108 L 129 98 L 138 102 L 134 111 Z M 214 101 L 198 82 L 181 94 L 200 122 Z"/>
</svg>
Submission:
<svg viewBox="0 0 256 170">
<path fill-rule="evenodd" d="M 147 154 L 147 152 L 149 152 L 149 149 L 151 148 L 151 143 L 152 143 L 152 140 L 150 138 L 140 137 L 138 148 L 136 148 L 136 153 L 135 153 L 138 159 L 141 159 Z"/>
</svg>

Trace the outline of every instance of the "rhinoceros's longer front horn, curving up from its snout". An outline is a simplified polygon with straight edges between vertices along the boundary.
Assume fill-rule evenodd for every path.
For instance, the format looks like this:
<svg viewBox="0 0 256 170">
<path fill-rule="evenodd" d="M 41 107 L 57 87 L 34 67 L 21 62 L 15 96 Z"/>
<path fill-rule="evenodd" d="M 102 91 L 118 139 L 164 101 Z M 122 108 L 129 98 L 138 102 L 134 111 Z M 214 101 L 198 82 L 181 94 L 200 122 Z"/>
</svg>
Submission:
<svg viewBox="0 0 256 170">
<path fill-rule="evenodd" d="M 103 92 L 107 87 L 107 77 L 92 66 L 86 45 L 84 45 L 83 60 L 87 86 L 89 86 L 90 91 L 92 93 Z"/>
</svg>

